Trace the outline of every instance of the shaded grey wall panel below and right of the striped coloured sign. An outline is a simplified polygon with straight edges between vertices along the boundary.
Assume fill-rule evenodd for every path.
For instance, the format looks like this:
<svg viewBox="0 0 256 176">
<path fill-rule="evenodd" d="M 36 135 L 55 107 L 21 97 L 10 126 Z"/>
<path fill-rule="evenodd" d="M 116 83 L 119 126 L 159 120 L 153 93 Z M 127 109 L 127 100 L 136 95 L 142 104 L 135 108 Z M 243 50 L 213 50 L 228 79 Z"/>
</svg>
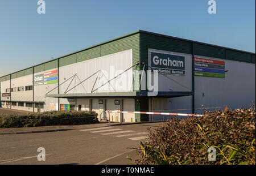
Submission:
<svg viewBox="0 0 256 176">
<path fill-rule="evenodd" d="M 203 57 L 206 59 L 215 59 Z M 195 76 L 195 108 L 248 108 L 255 102 L 255 65 L 225 61 L 225 78 Z M 200 110 L 196 110 L 201 112 Z"/>
</svg>

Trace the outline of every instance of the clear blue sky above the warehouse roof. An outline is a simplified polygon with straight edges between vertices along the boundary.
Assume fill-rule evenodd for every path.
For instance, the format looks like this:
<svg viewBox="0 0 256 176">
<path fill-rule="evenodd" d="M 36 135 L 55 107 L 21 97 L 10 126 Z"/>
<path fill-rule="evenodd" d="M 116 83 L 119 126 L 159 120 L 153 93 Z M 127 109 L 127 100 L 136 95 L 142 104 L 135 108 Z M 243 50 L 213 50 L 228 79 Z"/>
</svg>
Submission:
<svg viewBox="0 0 256 176">
<path fill-rule="evenodd" d="M 138 29 L 255 53 L 255 0 L 0 0 L 0 76 Z"/>
</svg>

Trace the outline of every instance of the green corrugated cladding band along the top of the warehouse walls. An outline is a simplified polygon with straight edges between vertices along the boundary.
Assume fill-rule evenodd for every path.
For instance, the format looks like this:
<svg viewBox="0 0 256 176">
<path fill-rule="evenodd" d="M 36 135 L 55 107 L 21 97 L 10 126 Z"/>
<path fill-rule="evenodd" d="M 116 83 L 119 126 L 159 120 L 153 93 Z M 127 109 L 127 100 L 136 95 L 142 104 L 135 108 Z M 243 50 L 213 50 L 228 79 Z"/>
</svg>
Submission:
<svg viewBox="0 0 256 176">
<path fill-rule="evenodd" d="M 56 58 L 52 61 L 44 62 L 34 66 L 34 73 L 42 72 L 66 66 L 72 63 L 86 61 L 88 59 L 98 58 L 104 55 L 117 53 L 124 50 L 133 50 L 133 63 L 148 62 L 148 49 L 159 49 L 173 51 L 177 53 L 192 54 L 192 42 L 195 42 L 195 55 L 227 59 L 230 61 L 240 61 L 255 63 L 255 54 L 232 49 L 226 49 L 221 46 L 203 44 L 201 42 L 184 40 L 170 36 L 159 35 L 146 31 L 135 31 L 128 35 L 114 38 L 113 40 L 102 42 L 90 48 L 82 49 L 74 53 Z M 11 74 L 11 78 L 19 78 L 32 74 L 32 67 Z M 9 80 L 10 75 L 2 76 L 0 81 Z M 137 78 L 139 79 L 139 77 Z"/>
</svg>

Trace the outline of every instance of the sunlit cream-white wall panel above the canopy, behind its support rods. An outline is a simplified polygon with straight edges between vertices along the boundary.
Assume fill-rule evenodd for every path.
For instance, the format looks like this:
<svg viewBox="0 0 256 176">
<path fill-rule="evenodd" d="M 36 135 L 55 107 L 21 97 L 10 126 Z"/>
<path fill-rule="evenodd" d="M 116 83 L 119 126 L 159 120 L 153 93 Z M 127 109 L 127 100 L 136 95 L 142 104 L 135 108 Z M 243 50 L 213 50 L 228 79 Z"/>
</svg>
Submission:
<svg viewBox="0 0 256 176">
<path fill-rule="evenodd" d="M 111 67 L 112 66 L 112 67 Z M 97 89 L 100 87 L 102 84 L 105 84 L 108 82 L 108 80 L 114 78 L 114 75 L 117 76 L 116 74 L 119 74 L 117 71 L 122 70 L 125 71 L 127 68 L 132 66 L 132 50 L 127 50 L 127 51 L 122 51 L 120 53 L 115 53 L 115 54 L 110 54 L 106 55 L 104 57 L 100 58 L 94 58 L 94 59 L 89 59 L 87 61 L 82 61 L 78 63 L 74 63 L 72 65 L 67 65 L 64 67 L 60 67 L 59 69 L 59 75 L 60 75 L 60 80 L 59 83 L 63 83 L 65 80 L 68 80 L 71 78 L 73 75 L 79 76 L 79 79 L 85 80 L 89 76 L 93 75 L 90 77 L 88 80 L 84 81 L 84 83 L 80 84 L 76 88 L 72 89 L 68 93 L 86 93 L 86 92 L 91 92 L 92 88 Z M 97 75 L 95 74 L 97 71 L 104 71 L 104 75 L 102 74 L 99 75 L 99 78 L 96 81 Z M 121 72 L 120 72 L 121 74 Z M 126 81 L 123 82 L 126 85 L 123 86 L 117 86 L 115 91 L 117 92 L 131 92 L 132 91 L 132 69 L 130 68 L 130 71 L 125 72 L 121 76 L 119 76 L 118 79 L 124 78 L 122 76 L 126 76 Z M 66 81 L 64 84 L 60 85 L 60 93 L 64 93 L 65 90 L 68 88 L 69 89 L 74 87 L 76 84 L 80 83 L 78 78 L 74 78 L 73 81 L 72 79 Z M 110 81 L 111 85 L 114 86 L 114 83 L 117 83 L 117 80 L 112 80 Z M 72 82 L 71 82 L 72 81 Z M 94 85 L 95 83 L 95 85 Z M 94 87 L 93 87 L 94 85 Z M 105 84 L 103 87 L 98 89 L 96 92 L 114 92 L 114 89 L 112 89 L 109 83 Z M 84 90 L 85 88 L 85 90 Z M 94 93 L 96 93 L 94 92 Z"/>
</svg>

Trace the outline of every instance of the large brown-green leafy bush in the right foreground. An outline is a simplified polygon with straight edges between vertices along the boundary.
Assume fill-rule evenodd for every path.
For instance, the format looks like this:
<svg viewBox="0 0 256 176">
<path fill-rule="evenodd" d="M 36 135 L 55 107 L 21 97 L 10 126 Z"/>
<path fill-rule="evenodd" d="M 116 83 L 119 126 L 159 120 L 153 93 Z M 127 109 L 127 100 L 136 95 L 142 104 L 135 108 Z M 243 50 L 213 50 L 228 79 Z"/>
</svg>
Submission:
<svg viewBox="0 0 256 176">
<path fill-rule="evenodd" d="M 255 106 L 173 118 L 141 143 L 136 164 L 255 164 Z M 216 148 L 216 161 L 208 149 Z"/>
</svg>

